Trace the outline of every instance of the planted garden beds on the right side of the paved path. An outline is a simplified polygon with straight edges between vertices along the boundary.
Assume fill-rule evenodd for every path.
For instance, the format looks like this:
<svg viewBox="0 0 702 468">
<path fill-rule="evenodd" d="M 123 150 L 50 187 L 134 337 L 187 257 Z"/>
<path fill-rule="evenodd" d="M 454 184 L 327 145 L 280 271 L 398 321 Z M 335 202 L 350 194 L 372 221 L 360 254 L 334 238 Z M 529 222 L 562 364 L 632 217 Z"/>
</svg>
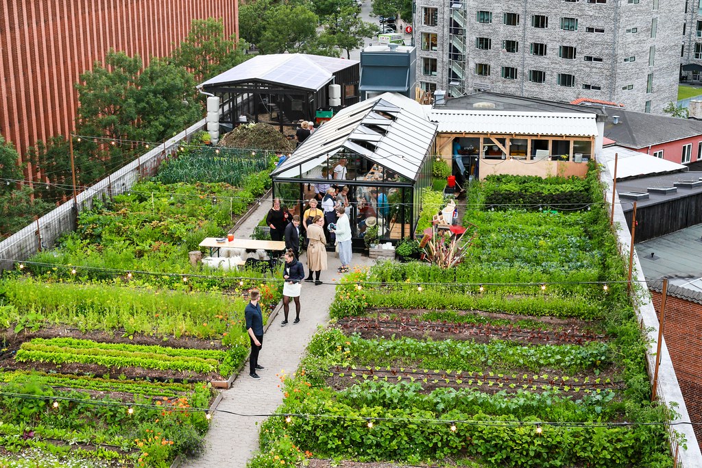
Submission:
<svg viewBox="0 0 702 468">
<path fill-rule="evenodd" d="M 597 166 L 467 208 L 456 267 L 345 276 L 249 467 L 673 467 Z"/>
</svg>

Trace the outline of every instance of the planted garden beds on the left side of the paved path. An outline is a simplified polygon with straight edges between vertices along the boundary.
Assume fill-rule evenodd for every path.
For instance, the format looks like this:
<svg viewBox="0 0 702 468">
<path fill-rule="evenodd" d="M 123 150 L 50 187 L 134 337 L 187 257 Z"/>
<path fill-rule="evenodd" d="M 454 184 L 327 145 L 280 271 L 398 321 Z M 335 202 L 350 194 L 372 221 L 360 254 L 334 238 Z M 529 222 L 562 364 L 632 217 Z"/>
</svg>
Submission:
<svg viewBox="0 0 702 468">
<path fill-rule="evenodd" d="M 1 466 L 168 467 L 201 448 L 212 384 L 249 351 L 244 293 L 259 287 L 267 314 L 280 290 L 259 272 L 194 266 L 188 253 L 265 193 L 274 161 L 185 146 L 5 272 Z"/>
</svg>

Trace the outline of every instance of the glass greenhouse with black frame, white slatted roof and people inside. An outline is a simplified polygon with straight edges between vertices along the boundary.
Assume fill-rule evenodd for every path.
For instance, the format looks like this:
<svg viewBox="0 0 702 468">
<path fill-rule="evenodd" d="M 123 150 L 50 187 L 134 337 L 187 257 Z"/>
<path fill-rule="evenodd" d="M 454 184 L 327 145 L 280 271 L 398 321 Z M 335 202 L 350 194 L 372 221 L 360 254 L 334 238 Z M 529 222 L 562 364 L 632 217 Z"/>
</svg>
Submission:
<svg viewBox="0 0 702 468">
<path fill-rule="evenodd" d="M 380 241 L 413 237 L 436 129 L 422 105 L 394 93 L 346 107 L 273 171 L 274 196 L 301 213 L 313 185 L 346 186 L 355 247 L 369 218 Z"/>
</svg>

